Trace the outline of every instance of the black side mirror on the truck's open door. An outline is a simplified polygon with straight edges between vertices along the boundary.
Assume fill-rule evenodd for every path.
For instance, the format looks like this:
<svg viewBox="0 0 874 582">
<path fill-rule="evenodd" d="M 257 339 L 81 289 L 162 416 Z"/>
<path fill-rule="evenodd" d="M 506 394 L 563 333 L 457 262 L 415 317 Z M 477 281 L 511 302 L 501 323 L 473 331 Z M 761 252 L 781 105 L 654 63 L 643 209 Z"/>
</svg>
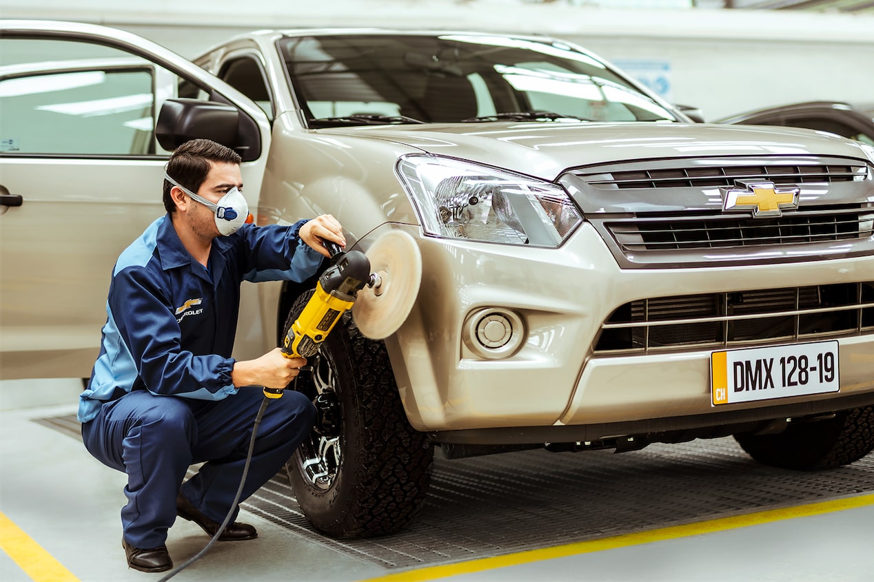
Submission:
<svg viewBox="0 0 874 582">
<path fill-rule="evenodd" d="M 235 150 L 245 162 L 260 156 L 257 126 L 237 107 L 225 103 L 166 100 L 158 114 L 155 135 L 161 147 L 168 151 L 193 139 L 207 139 Z"/>
</svg>

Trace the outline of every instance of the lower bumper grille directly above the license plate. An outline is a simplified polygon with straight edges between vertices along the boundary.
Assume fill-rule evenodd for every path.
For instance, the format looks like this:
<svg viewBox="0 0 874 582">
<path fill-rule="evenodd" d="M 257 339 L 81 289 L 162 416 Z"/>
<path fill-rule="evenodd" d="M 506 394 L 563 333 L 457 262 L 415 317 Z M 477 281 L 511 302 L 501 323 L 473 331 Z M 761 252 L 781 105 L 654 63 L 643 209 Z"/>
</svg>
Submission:
<svg viewBox="0 0 874 582">
<path fill-rule="evenodd" d="M 595 353 L 741 347 L 874 333 L 874 281 L 631 301 L 601 326 Z"/>
</svg>

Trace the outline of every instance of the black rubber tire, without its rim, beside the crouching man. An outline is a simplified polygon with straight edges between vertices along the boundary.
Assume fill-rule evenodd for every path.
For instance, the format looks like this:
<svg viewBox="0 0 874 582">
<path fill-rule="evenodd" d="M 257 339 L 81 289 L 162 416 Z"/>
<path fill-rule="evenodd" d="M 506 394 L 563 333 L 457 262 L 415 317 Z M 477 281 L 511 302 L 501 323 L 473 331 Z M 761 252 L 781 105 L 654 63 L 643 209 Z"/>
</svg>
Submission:
<svg viewBox="0 0 874 582">
<path fill-rule="evenodd" d="M 303 294 L 289 311 L 285 329 L 309 301 Z M 336 482 L 318 492 L 300 474 L 295 458 L 287 464 L 288 478 L 301 509 L 317 530 L 336 538 L 376 537 L 410 523 L 424 505 L 431 481 L 434 447 L 425 433 L 410 426 L 400 401 L 385 343 L 365 337 L 343 315 L 324 347 L 337 360 L 337 373 L 347 371 L 339 394 L 343 410 L 343 461 Z M 339 380 L 338 380 L 339 383 Z"/>
</svg>

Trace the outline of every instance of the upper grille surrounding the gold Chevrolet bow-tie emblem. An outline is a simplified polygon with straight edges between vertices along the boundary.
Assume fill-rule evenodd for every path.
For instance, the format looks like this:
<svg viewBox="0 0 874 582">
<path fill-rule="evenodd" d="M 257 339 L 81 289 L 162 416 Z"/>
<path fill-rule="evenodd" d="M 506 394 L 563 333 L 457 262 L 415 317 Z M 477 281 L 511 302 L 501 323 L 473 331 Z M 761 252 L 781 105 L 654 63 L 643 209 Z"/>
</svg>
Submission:
<svg viewBox="0 0 874 582">
<path fill-rule="evenodd" d="M 638 160 L 574 168 L 559 182 L 622 268 L 874 254 L 874 171 L 864 160 L 808 155 Z M 726 191 L 755 183 L 797 189 L 797 208 L 773 217 L 725 211 Z"/>
</svg>

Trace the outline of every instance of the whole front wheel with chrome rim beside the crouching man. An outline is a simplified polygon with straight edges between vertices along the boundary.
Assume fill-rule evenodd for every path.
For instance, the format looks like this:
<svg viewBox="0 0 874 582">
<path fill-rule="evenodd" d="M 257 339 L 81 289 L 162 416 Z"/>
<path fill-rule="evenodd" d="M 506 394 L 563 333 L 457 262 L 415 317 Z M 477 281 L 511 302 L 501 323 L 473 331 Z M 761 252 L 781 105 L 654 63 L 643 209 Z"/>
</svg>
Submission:
<svg viewBox="0 0 874 582">
<path fill-rule="evenodd" d="M 311 296 L 295 301 L 285 330 Z M 309 523 L 336 538 L 410 523 L 425 502 L 434 447 L 406 419 L 385 344 L 364 337 L 347 312 L 289 387 L 317 398 L 322 420 L 286 464 Z"/>
</svg>

